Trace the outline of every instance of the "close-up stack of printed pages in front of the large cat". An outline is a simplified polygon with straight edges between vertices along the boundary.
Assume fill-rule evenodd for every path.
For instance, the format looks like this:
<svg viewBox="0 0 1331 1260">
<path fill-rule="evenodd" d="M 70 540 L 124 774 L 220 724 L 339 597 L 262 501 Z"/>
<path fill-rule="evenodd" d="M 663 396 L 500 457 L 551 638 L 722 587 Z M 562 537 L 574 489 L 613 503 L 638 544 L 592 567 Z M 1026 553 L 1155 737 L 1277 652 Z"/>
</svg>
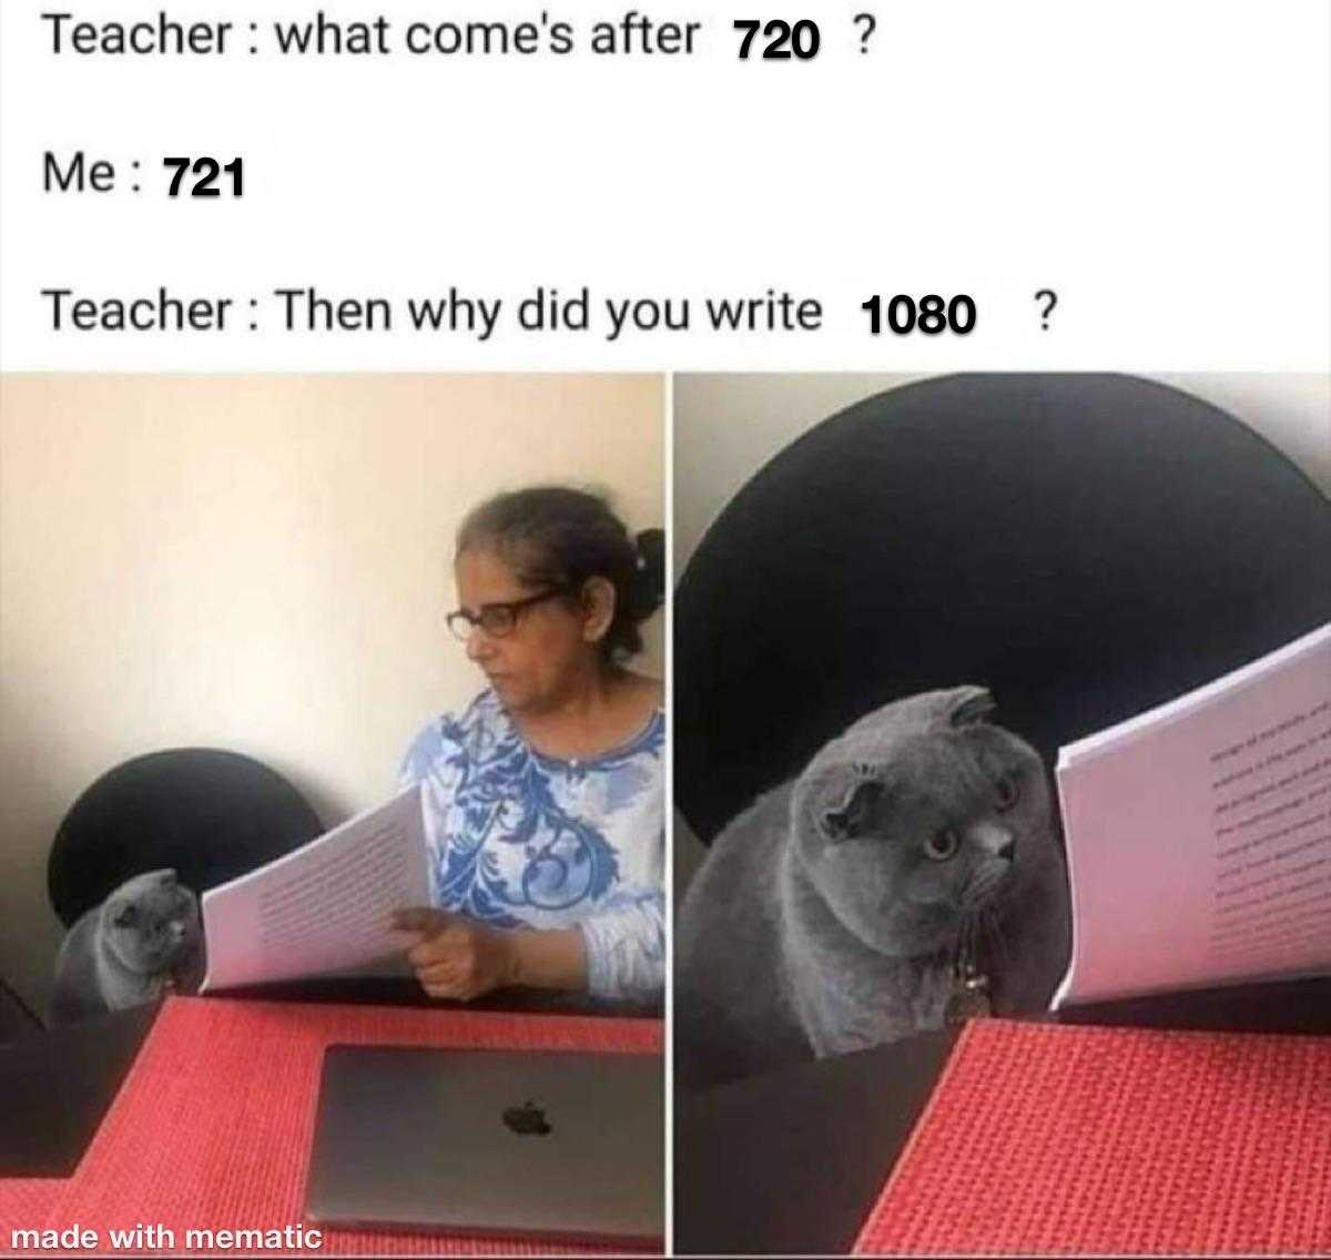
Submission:
<svg viewBox="0 0 1331 1260">
<path fill-rule="evenodd" d="M 1331 625 L 1059 753 L 1073 1002 L 1331 973 Z"/>
</svg>

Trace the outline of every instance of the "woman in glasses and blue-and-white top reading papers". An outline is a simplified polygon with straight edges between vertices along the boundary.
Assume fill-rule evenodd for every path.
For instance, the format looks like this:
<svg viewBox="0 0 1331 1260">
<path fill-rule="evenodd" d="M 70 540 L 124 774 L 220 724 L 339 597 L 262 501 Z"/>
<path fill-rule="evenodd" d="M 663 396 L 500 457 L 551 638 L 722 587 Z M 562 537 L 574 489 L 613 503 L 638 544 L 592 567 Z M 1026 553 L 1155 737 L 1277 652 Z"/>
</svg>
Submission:
<svg viewBox="0 0 1331 1260">
<path fill-rule="evenodd" d="M 426 993 L 526 985 L 651 1001 L 666 974 L 662 685 L 626 669 L 662 603 L 664 535 L 536 487 L 458 531 L 450 629 L 488 680 L 407 752 L 437 909 L 403 910 Z"/>
</svg>

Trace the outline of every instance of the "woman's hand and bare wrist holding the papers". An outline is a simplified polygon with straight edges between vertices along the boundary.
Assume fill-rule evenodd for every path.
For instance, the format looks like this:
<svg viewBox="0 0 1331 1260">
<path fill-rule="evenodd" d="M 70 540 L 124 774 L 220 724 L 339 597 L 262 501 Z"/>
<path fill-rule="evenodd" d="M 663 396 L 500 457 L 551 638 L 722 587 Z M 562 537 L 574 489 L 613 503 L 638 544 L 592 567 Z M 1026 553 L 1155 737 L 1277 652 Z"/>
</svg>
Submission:
<svg viewBox="0 0 1331 1260">
<path fill-rule="evenodd" d="M 463 914 L 426 906 L 395 911 L 393 927 L 421 934 L 407 950 L 407 961 L 431 998 L 470 1002 L 510 985 L 587 987 L 587 949 L 576 927 L 554 931 L 490 927 Z"/>
</svg>

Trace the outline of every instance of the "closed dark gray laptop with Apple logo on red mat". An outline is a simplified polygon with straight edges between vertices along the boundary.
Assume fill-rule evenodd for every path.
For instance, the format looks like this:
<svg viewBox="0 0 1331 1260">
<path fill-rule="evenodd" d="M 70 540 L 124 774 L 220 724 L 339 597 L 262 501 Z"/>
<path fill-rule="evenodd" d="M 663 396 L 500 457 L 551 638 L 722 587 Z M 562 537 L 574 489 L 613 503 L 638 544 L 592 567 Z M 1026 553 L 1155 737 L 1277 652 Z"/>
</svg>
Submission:
<svg viewBox="0 0 1331 1260">
<path fill-rule="evenodd" d="M 309 1216 L 660 1243 L 659 1055 L 329 1046 Z"/>
</svg>

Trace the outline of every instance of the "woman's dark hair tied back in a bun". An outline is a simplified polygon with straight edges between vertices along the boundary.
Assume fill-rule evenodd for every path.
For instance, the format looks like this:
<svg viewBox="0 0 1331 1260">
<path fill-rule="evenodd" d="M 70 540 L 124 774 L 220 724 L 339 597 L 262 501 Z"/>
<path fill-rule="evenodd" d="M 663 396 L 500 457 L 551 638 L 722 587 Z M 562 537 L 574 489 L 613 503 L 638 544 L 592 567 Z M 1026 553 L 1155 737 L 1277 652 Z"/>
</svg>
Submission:
<svg viewBox="0 0 1331 1260">
<path fill-rule="evenodd" d="M 473 508 L 458 530 L 458 555 L 494 547 L 526 585 L 567 587 L 576 595 L 590 577 L 615 588 L 615 616 L 602 640 L 607 660 L 643 649 L 638 627 L 664 599 L 666 534 L 630 538 L 600 495 L 567 486 L 532 486 L 495 495 Z"/>
</svg>

